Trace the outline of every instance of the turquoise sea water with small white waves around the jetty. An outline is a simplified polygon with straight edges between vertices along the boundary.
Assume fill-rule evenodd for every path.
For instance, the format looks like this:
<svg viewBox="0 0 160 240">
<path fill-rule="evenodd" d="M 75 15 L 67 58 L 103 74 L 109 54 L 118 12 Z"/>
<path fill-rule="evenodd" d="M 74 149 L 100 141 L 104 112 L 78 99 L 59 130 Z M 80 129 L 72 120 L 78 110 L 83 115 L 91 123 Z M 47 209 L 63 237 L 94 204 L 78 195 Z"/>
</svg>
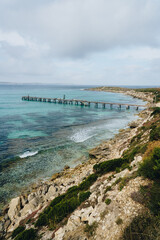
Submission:
<svg viewBox="0 0 160 240">
<path fill-rule="evenodd" d="M 84 91 L 86 86 L 0 85 L 0 201 L 38 179 L 86 161 L 88 150 L 135 119 L 126 110 L 27 102 L 21 97 L 63 97 L 105 102 L 143 101 L 123 94 Z"/>
</svg>

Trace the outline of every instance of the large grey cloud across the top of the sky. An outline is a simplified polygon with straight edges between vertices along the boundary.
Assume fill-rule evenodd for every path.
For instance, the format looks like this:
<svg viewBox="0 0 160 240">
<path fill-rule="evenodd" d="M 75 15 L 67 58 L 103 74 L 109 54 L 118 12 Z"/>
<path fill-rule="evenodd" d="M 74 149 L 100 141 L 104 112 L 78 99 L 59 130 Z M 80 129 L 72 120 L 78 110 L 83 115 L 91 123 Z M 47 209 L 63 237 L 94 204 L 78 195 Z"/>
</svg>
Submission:
<svg viewBox="0 0 160 240">
<path fill-rule="evenodd" d="M 117 46 L 160 44 L 158 0 L 18 3 L 17 11 L 12 4 L 8 12 L 8 27 L 13 21 L 19 31 L 50 45 L 56 56 L 84 57 Z"/>
</svg>

